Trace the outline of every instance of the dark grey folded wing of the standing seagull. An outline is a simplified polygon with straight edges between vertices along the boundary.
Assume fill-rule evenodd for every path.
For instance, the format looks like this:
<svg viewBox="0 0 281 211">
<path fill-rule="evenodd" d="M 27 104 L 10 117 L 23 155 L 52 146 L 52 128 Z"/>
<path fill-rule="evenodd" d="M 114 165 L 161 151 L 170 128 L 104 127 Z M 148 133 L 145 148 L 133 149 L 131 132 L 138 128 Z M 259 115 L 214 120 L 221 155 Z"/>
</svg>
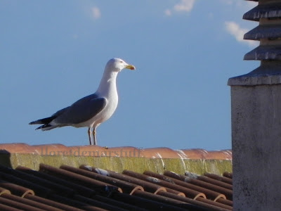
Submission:
<svg viewBox="0 0 281 211">
<path fill-rule="evenodd" d="M 58 124 L 79 124 L 86 122 L 100 113 L 106 104 L 106 98 L 98 98 L 96 94 L 91 94 L 76 101 L 72 106 L 59 110 L 57 112 L 59 115 L 55 118 L 55 122 Z"/>
</svg>

